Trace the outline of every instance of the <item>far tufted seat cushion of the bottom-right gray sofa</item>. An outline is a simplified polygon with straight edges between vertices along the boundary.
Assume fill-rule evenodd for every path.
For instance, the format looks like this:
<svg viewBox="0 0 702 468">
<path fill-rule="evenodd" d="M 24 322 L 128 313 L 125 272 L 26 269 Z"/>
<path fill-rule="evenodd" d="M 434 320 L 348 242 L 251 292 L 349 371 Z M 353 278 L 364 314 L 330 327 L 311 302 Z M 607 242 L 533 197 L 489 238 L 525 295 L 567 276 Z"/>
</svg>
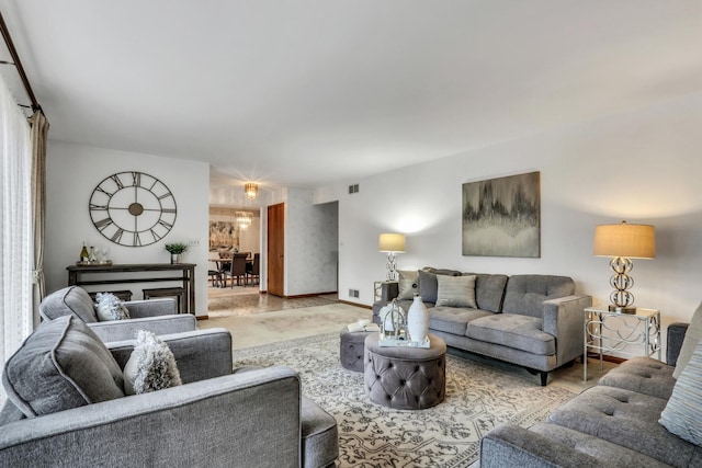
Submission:
<svg viewBox="0 0 702 468">
<path fill-rule="evenodd" d="M 672 366 L 650 357 L 633 357 L 607 373 L 600 378 L 599 385 L 624 388 L 667 400 L 676 385 L 672 369 Z"/>
</svg>

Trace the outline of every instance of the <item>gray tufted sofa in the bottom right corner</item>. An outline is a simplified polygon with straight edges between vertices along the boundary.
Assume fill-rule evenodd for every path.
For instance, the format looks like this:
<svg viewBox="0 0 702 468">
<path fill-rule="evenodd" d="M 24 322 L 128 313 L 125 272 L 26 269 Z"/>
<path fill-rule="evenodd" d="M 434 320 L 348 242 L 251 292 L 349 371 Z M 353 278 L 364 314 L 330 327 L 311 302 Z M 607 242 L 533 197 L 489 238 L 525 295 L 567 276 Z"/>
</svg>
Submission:
<svg viewBox="0 0 702 468">
<path fill-rule="evenodd" d="M 698 313 L 702 316 L 702 306 Z M 668 328 L 668 364 L 635 357 L 556 409 L 545 423 L 528 430 L 512 424 L 495 427 L 480 441 L 480 468 L 702 467 L 702 446 L 658 422 L 676 388 L 673 366 L 686 329 L 682 323 Z M 702 368 L 701 361 L 694 372 Z M 699 381 L 698 375 L 698 404 Z M 694 406 L 694 399 L 687 397 L 681 407 Z M 680 421 L 679 413 L 676 420 Z M 697 431 L 700 436 L 699 420 Z"/>
</svg>

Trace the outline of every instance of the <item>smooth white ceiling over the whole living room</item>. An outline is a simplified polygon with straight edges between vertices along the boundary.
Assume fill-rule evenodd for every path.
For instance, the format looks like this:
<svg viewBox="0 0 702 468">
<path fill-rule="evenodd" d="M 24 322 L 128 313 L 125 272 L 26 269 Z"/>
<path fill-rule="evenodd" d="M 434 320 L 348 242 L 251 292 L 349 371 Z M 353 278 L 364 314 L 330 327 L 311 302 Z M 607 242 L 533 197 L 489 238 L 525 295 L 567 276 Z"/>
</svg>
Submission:
<svg viewBox="0 0 702 468">
<path fill-rule="evenodd" d="M 233 186 L 354 181 L 702 91 L 699 0 L 0 0 L 0 11 L 50 139 L 206 161 Z"/>
</svg>

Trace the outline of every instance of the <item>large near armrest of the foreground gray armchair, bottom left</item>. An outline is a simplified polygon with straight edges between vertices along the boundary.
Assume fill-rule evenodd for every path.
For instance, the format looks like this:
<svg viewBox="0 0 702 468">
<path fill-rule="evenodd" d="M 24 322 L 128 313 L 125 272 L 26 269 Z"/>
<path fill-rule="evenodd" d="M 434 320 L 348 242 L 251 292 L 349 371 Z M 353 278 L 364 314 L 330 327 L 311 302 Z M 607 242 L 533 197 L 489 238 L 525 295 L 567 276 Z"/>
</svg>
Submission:
<svg viewBox="0 0 702 468">
<path fill-rule="evenodd" d="M 301 385 L 287 367 L 188 384 L 22 420 L 3 466 L 298 467 Z"/>
</svg>

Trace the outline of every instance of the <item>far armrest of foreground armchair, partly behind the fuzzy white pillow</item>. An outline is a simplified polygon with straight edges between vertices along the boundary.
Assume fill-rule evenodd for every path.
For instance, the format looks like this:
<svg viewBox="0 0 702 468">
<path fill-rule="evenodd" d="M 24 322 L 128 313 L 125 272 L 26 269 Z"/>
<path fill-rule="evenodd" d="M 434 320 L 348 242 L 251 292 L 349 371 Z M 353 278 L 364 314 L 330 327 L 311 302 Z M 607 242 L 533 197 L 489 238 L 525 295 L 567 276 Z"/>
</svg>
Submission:
<svg viewBox="0 0 702 468">
<path fill-rule="evenodd" d="M 173 352 L 183 384 L 231 374 L 229 330 L 213 328 L 165 334 L 159 338 Z M 105 343 L 122 368 L 129 359 L 135 344 L 135 340 Z"/>
</svg>

